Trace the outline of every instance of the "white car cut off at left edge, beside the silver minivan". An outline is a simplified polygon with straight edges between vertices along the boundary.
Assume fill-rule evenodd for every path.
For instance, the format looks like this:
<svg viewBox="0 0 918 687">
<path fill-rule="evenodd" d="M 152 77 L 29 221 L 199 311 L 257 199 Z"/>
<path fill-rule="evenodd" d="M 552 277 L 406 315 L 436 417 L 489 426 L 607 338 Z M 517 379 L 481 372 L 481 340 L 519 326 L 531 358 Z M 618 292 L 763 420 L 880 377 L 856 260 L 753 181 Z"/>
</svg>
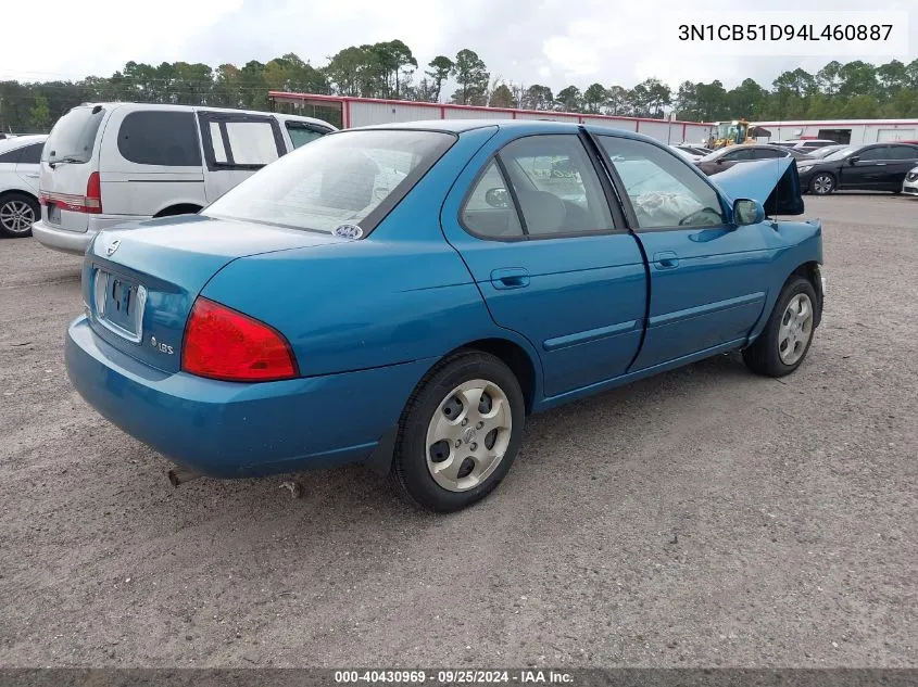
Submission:
<svg viewBox="0 0 918 687">
<path fill-rule="evenodd" d="M 0 140 L 0 236 L 32 236 L 39 216 L 38 161 L 45 139 L 11 136 Z"/>
</svg>

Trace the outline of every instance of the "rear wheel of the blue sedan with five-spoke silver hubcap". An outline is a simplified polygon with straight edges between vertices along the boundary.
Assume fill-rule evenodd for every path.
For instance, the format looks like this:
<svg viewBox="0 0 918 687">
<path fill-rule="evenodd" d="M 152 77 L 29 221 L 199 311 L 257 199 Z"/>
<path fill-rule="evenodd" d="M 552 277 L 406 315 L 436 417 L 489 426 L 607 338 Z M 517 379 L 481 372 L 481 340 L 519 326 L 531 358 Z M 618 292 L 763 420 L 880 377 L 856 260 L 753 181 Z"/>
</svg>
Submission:
<svg viewBox="0 0 918 687">
<path fill-rule="evenodd" d="M 416 506 L 461 510 L 504 479 L 525 422 L 523 391 L 513 371 L 490 354 L 458 353 L 431 369 L 408 398 L 390 479 Z"/>
</svg>

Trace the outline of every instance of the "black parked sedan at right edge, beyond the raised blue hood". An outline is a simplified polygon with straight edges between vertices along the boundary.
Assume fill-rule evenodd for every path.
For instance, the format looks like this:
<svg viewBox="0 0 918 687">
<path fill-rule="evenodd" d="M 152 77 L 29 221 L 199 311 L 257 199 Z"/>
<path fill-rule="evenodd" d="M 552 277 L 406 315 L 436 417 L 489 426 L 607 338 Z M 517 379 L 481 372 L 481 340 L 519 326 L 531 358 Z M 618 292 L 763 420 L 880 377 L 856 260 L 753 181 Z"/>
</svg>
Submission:
<svg viewBox="0 0 918 687">
<path fill-rule="evenodd" d="M 797 170 L 803 188 L 816 195 L 842 189 L 901 193 L 905 175 L 916 164 L 918 145 L 871 143 L 800 162 Z"/>
</svg>

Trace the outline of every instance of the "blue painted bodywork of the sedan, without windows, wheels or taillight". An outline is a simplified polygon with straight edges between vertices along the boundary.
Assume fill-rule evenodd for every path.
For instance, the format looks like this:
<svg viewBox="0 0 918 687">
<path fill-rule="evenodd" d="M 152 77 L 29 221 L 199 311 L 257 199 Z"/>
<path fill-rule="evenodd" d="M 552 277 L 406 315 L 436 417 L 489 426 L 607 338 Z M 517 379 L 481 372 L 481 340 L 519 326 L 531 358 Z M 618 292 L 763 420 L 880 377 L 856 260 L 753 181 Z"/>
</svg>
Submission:
<svg viewBox="0 0 918 687">
<path fill-rule="evenodd" d="M 385 448 L 412 390 L 452 351 L 513 344 L 533 372 L 531 410 L 545 410 L 747 345 L 791 272 L 821 263 L 818 221 L 737 227 L 729 213 L 704 229 L 478 238 L 460 213 L 493 155 L 521 136 L 583 132 L 549 122 L 450 128 L 455 144 L 360 240 L 208 217 L 99 234 L 84 266 L 88 316 L 66 336 L 74 386 L 126 432 L 205 474 L 360 462 Z M 742 195 L 738 176 L 718 191 L 725 207 Z M 744 196 L 759 200 L 766 186 L 754 179 Z M 140 342 L 102 321 L 100 269 L 146 289 Z M 300 378 L 247 384 L 183 372 L 199 296 L 281 332 Z"/>
</svg>

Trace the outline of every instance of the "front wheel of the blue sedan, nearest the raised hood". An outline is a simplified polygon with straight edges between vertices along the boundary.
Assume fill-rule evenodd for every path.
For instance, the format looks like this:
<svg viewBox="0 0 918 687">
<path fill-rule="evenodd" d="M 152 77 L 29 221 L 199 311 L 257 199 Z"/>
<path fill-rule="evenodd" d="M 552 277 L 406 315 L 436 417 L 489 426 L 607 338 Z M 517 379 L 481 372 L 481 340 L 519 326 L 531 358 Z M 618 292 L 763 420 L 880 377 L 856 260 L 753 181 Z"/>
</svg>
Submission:
<svg viewBox="0 0 918 687">
<path fill-rule="evenodd" d="M 806 303 L 808 318 L 802 313 Z M 816 291 L 803 277 L 791 277 L 771 310 L 768 323 L 751 346 L 743 349 L 743 360 L 757 374 L 784 377 L 797 369 L 813 343 L 816 332 Z M 798 345 L 797 345 L 798 344 Z M 792 349 L 789 349 L 792 346 Z"/>
</svg>

